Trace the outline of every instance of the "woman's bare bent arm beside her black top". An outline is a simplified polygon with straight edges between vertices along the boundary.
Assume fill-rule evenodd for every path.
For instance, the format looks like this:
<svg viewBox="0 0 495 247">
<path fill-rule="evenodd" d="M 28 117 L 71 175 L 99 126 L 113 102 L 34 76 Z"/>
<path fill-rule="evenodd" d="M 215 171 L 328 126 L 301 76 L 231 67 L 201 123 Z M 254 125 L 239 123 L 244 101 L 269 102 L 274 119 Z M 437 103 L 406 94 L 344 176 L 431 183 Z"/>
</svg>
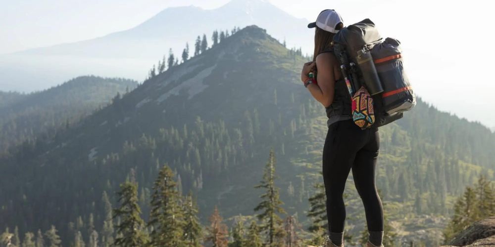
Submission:
<svg viewBox="0 0 495 247">
<path fill-rule="evenodd" d="M 331 52 L 321 53 L 316 57 L 316 81 L 318 84 L 311 83 L 307 89 L 313 97 L 324 107 L 329 107 L 334 100 L 335 92 L 335 75 L 333 64 L 337 59 Z"/>
</svg>

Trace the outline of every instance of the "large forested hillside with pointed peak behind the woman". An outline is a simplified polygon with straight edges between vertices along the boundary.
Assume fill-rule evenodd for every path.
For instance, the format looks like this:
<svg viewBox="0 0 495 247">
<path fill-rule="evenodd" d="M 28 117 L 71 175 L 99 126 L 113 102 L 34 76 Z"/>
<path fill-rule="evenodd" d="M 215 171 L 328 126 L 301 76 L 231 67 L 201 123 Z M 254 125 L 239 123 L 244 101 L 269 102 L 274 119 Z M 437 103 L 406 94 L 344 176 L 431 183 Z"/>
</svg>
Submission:
<svg viewBox="0 0 495 247">
<path fill-rule="evenodd" d="M 148 217 L 158 165 L 177 172 L 179 190 L 198 196 L 203 222 L 215 205 L 225 218 L 251 215 L 268 150 L 276 153 L 284 208 L 307 226 L 307 199 L 321 182 L 324 109 L 299 82 L 306 62 L 265 30 L 248 26 L 198 56 L 150 78 L 122 98 L 46 142 L 0 160 L 0 227 L 21 232 L 54 224 L 73 239 L 74 222 L 102 228 L 106 191 L 139 183 Z M 439 242 L 452 200 L 476 175 L 494 178 L 495 134 L 418 100 L 397 123 L 380 128 L 377 186 L 400 241 Z M 349 176 L 347 227 L 364 228 Z"/>
</svg>

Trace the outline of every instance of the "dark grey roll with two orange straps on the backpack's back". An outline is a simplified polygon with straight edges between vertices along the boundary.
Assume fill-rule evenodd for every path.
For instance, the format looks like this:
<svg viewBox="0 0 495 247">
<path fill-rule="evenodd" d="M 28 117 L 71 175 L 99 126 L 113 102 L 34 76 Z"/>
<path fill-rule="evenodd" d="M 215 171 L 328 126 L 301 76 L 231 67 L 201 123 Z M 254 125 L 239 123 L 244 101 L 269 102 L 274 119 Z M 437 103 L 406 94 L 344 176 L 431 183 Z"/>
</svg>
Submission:
<svg viewBox="0 0 495 247">
<path fill-rule="evenodd" d="M 383 108 L 389 115 L 408 111 L 416 105 L 416 96 L 402 63 L 400 42 L 387 38 L 371 49 L 375 68 L 384 89 Z"/>
</svg>

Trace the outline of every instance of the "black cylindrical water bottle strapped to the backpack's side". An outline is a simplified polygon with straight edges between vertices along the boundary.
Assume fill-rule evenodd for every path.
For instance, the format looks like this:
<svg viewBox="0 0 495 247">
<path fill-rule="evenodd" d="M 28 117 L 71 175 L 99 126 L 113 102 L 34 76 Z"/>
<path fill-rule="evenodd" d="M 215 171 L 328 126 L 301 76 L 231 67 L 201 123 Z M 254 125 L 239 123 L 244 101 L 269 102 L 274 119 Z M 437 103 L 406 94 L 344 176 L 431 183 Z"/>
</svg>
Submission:
<svg viewBox="0 0 495 247">
<path fill-rule="evenodd" d="M 380 82 L 380 78 L 378 77 L 371 52 L 364 49 L 358 50 L 356 61 L 363 75 L 368 92 L 371 95 L 383 92 L 382 82 Z"/>
</svg>

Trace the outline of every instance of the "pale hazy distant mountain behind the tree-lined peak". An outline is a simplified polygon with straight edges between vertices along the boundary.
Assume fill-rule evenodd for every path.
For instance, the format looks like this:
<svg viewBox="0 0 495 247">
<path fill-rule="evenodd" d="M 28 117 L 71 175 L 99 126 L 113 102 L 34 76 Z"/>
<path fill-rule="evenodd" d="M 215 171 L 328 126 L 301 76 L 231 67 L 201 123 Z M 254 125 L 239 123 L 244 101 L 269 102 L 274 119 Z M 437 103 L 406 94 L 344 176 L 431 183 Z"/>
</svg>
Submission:
<svg viewBox="0 0 495 247">
<path fill-rule="evenodd" d="M 211 46 L 214 30 L 231 32 L 252 24 L 281 42 L 287 40 L 289 47 L 302 45 L 307 51 L 314 31 L 307 23 L 265 0 L 232 0 L 211 10 L 166 8 L 134 28 L 101 38 L 0 55 L 0 90 L 41 90 L 87 74 L 141 81 L 169 48 L 180 57 L 188 41 L 192 55 L 198 35 L 206 34 Z"/>
</svg>

